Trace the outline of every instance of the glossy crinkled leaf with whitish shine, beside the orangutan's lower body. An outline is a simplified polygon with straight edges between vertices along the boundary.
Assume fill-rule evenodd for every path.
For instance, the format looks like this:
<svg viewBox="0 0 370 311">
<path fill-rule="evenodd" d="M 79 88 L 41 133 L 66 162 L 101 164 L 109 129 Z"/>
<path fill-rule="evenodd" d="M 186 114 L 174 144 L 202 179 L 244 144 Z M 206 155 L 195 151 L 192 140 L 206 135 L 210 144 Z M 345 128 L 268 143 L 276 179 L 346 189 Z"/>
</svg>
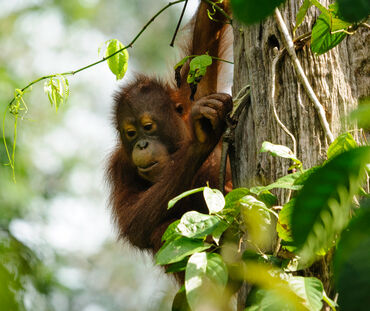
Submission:
<svg viewBox="0 0 370 311">
<path fill-rule="evenodd" d="M 177 226 L 177 231 L 188 238 L 203 239 L 211 234 L 222 222 L 221 218 L 201 214 L 196 211 L 185 213 Z"/>
</svg>

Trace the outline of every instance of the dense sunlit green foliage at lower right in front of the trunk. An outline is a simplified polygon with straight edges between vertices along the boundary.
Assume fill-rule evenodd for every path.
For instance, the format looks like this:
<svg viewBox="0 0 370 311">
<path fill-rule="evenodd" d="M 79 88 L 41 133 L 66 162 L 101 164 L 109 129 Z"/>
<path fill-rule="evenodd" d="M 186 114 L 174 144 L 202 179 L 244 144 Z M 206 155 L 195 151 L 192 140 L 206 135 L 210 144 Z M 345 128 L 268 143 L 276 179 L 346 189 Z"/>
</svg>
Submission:
<svg viewBox="0 0 370 311">
<path fill-rule="evenodd" d="M 358 272 L 354 273 L 359 276 L 352 282 L 353 287 L 369 285 L 370 266 L 365 251 L 370 237 L 365 228 L 369 213 L 367 210 L 357 213 L 352 201 L 361 189 L 370 161 L 370 147 L 357 146 L 352 135 L 344 133 L 330 145 L 328 160 L 306 171 L 285 146 L 264 142 L 261 152 L 289 158 L 299 163 L 301 170 L 271 185 L 234 189 L 224 199 L 219 191 L 208 187 L 189 191 L 176 199 L 203 191 L 209 214 L 188 212 L 170 225 L 163 236 L 165 243 L 157 253 L 157 264 L 169 265 L 170 273 L 185 271 L 185 287 L 176 296 L 173 310 L 181 310 L 180 302 L 191 310 L 205 306 L 221 310 L 213 304 L 215 297 L 227 297 L 228 284 L 236 280 L 254 285 L 246 305 L 249 311 L 321 310 L 324 301 L 335 310 L 335 302 L 328 298 L 318 278 L 295 274 L 335 247 L 338 247 L 337 288 L 346 292 L 344 305 L 355 301 L 347 292 L 350 271 L 354 272 L 349 262 L 358 262 L 355 270 Z M 275 188 L 297 192 L 280 212 L 274 209 L 276 197 L 269 192 Z M 269 193 L 268 200 L 261 196 L 263 193 Z M 356 215 L 348 225 L 353 213 Z M 281 250 L 271 253 L 273 218 L 277 219 L 275 230 Z M 220 232 L 227 233 L 221 246 Z M 230 243 L 228 236 L 232 240 L 246 239 L 247 250 L 239 259 L 230 261 L 224 250 L 224 245 Z M 360 301 L 363 305 L 367 293 L 364 290 L 353 295 L 360 310 Z"/>
</svg>

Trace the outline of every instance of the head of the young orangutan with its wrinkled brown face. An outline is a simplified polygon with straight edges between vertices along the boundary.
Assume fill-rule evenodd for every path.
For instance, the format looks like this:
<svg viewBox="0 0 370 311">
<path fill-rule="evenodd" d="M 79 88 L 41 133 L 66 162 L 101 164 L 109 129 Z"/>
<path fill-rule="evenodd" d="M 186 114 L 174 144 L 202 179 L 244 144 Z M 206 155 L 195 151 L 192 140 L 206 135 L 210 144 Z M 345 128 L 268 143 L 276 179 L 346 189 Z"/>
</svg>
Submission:
<svg viewBox="0 0 370 311">
<path fill-rule="evenodd" d="M 170 161 L 170 154 L 189 136 L 182 106 L 155 82 L 130 88 L 119 99 L 117 130 L 137 174 L 155 183 Z"/>
</svg>

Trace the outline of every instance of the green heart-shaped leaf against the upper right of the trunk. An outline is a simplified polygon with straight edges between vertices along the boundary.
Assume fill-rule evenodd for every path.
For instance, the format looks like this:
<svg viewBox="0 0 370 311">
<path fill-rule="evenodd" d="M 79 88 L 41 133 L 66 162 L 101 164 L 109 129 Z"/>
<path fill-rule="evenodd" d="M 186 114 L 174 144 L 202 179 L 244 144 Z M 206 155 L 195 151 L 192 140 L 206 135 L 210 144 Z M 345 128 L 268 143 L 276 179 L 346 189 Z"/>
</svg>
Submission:
<svg viewBox="0 0 370 311">
<path fill-rule="evenodd" d="M 337 44 L 339 44 L 346 36 L 345 32 L 332 33 L 334 31 L 346 30 L 351 24 L 346 23 L 339 18 L 336 18 L 336 9 L 332 8 L 331 15 L 322 13 L 315 26 L 312 29 L 311 49 L 317 54 L 324 54 Z"/>
</svg>

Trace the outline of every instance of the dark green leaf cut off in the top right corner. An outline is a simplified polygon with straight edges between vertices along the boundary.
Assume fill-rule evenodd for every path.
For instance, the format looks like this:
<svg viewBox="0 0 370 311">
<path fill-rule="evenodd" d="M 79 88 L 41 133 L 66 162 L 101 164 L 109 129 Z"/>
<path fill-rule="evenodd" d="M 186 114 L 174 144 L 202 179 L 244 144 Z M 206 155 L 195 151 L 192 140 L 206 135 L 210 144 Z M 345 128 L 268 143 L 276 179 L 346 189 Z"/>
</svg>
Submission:
<svg viewBox="0 0 370 311">
<path fill-rule="evenodd" d="M 360 22 L 370 14 L 370 2 L 367 0 L 337 0 L 339 14 L 348 22 Z"/>
</svg>

